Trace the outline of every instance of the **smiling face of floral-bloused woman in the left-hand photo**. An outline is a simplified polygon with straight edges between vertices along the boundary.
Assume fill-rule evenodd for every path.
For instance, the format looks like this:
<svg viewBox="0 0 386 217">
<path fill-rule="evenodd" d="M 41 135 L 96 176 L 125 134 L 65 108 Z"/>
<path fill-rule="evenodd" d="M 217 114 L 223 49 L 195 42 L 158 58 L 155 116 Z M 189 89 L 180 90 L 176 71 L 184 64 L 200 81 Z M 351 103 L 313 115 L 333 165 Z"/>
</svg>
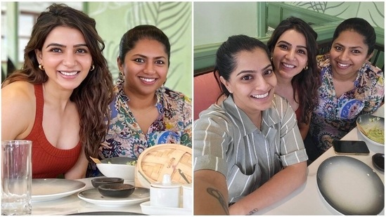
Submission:
<svg viewBox="0 0 386 217">
<path fill-rule="evenodd" d="M 124 91 L 129 96 L 154 95 L 165 83 L 168 70 L 165 46 L 154 39 L 140 39 L 126 53 L 124 63 L 118 58 L 118 67 L 124 74 Z"/>
</svg>

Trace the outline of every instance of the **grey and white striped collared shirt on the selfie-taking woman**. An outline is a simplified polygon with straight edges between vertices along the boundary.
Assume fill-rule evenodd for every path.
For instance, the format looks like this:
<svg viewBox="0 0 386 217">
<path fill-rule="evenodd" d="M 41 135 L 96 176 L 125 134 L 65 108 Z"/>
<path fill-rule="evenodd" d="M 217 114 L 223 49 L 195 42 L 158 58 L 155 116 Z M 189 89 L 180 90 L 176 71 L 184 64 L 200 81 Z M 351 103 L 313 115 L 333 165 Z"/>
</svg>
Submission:
<svg viewBox="0 0 386 217">
<path fill-rule="evenodd" d="M 193 140 L 194 170 L 224 174 L 230 203 L 249 195 L 283 166 L 308 159 L 295 112 L 277 95 L 262 112 L 261 131 L 229 96 L 221 106 L 201 112 Z"/>
</svg>

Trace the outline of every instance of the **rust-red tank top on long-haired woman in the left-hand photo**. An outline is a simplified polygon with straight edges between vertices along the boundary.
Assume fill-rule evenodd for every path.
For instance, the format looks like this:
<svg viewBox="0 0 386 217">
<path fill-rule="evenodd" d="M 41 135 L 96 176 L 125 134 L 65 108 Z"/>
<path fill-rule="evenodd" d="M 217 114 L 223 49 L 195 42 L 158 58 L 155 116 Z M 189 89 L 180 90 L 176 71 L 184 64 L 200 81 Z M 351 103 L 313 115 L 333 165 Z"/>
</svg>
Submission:
<svg viewBox="0 0 386 217">
<path fill-rule="evenodd" d="M 49 143 L 43 131 L 44 96 L 41 84 L 34 85 L 36 114 L 34 126 L 25 140 L 32 140 L 32 178 L 56 178 L 75 165 L 82 150 L 79 142 L 70 150 L 61 150 Z"/>
</svg>

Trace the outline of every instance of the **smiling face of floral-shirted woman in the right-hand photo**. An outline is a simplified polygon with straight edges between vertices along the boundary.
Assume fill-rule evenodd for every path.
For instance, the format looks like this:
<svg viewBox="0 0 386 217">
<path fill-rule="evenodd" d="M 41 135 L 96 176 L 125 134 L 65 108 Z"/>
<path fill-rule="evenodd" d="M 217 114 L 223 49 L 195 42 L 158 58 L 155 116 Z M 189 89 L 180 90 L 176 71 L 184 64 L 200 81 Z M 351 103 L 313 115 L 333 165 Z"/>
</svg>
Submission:
<svg viewBox="0 0 386 217">
<path fill-rule="evenodd" d="M 334 76 L 356 77 L 358 70 L 372 56 L 367 56 L 364 36 L 349 30 L 340 33 L 330 49 L 330 63 Z"/>
</svg>

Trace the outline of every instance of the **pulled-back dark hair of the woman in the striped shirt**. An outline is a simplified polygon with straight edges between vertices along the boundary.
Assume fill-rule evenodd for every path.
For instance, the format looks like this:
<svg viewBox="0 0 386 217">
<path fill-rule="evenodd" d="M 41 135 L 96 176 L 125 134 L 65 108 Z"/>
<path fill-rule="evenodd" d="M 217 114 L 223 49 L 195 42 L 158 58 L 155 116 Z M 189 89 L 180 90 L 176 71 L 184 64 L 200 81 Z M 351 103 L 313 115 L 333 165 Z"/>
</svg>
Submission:
<svg viewBox="0 0 386 217">
<path fill-rule="evenodd" d="M 222 92 L 219 98 L 223 95 L 229 96 L 231 94 L 219 80 L 219 77 L 222 76 L 226 81 L 229 81 L 231 73 L 237 67 L 236 55 L 241 51 L 253 51 L 256 48 L 262 49 L 265 51 L 267 57 L 271 58 L 271 53 L 262 41 L 243 34 L 233 35 L 221 44 L 216 52 L 216 63 L 214 64 L 213 70 L 214 77 Z"/>
</svg>

